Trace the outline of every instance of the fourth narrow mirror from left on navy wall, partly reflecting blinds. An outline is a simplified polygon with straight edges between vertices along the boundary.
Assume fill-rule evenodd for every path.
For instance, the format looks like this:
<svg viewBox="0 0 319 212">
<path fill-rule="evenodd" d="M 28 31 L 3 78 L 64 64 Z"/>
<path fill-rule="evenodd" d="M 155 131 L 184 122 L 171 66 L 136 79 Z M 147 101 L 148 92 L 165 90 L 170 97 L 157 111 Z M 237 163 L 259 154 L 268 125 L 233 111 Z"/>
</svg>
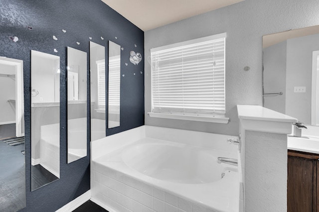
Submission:
<svg viewBox="0 0 319 212">
<path fill-rule="evenodd" d="M 90 41 L 91 141 L 106 136 L 105 47 Z"/>
</svg>

